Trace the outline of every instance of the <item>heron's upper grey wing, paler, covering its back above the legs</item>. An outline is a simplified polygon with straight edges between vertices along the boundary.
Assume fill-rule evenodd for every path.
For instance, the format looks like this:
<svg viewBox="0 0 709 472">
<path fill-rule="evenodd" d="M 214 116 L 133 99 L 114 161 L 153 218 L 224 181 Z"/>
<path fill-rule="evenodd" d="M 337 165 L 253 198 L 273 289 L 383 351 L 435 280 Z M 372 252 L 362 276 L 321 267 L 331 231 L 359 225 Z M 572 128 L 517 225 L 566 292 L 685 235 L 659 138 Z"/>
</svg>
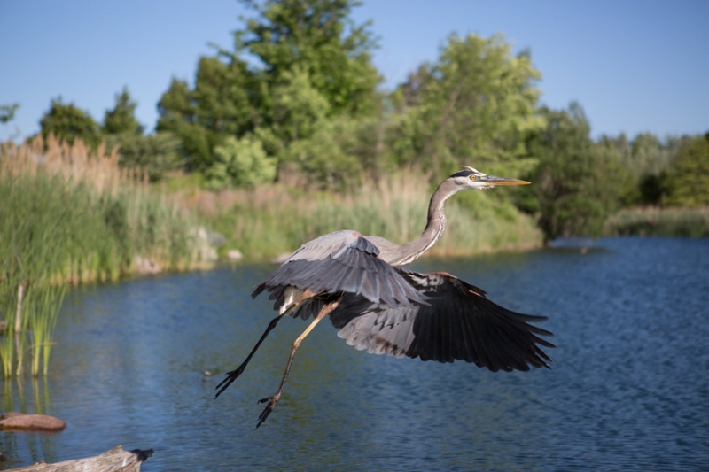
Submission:
<svg viewBox="0 0 709 472">
<path fill-rule="evenodd" d="M 316 294 L 350 293 L 387 306 L 425 304 L 425 297 L 378 254 L 377 246 L 356 231 L 320 236 L 293 252 L 252 297 L 267 290 L 280 307 L 293 287 Z M 300 315 L 307 317 L 314 310 L 315 306 Z"/>
</svg>

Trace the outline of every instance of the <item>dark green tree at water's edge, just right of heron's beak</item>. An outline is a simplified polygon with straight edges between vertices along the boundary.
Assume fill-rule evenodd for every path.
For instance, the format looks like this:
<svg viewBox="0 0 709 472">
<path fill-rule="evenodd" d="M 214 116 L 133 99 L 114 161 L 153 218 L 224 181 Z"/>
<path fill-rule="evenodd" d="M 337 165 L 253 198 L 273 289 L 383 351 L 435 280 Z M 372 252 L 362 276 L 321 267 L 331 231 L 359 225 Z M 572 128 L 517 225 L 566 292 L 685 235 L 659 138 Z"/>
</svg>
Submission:
<svg viewBox="0 0 709 472">
<path fill-rule="evenodd" d="M 542 108 L 547 128 L 528 145 L 539 166 L 528 177 L 523 208 L 539 215 L 544 237 L 600 236 L 605 219 L 618 206 L 626 174 L 612 154 L 591 140 L 579 104 L 568 110 Z"/>
</svg>

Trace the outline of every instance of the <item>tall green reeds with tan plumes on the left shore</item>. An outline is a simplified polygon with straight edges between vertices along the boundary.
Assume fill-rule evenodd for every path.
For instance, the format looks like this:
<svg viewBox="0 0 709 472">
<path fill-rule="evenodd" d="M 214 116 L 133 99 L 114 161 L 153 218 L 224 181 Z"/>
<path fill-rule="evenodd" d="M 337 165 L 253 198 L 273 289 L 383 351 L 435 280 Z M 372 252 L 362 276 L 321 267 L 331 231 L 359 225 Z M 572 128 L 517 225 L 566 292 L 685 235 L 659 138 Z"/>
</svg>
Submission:
<svg viewBox="0 0 709 472">
<path fill-rule="evenodd" d="M 69 146 L 51 136 L 0 144 L 4 375 L 13 366 L 22 374 L 26 352 L 32 374 L 46 374 L 66 284 L 131 274 L 136 256 L 168 270 L 206 263 L 197 225 L 102 146 L 92 153 L 78 140 Z"/>
</svg>

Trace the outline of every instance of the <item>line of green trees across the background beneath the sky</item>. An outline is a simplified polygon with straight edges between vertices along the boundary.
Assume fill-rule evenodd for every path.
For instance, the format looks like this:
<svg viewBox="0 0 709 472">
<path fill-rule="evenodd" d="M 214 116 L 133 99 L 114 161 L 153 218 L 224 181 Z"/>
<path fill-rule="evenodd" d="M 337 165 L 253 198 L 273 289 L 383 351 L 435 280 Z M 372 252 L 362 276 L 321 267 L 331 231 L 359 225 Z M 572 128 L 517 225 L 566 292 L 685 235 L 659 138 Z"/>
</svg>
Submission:
<svg viewBox="0 0 709 472">
<path fill-rule="evenodd" d="M 124 88 L 101 124 L 52 100 L 42 135 L 118 145 L 121 166 L 152 181 L 199 174 L 208 190 L 280 182 L 347 194 L 389 174 L 435 183 L 474 166 L 534 182 L 495 199 L 532 215 L 547 240 L 598 236 L 620 208 L 709 205 L 709 134 L 593 140 L 580 104 L 539 104 L 530 51 L 513 55 L 502 35 L 450 35 L 435 62 L 382 91 L 370 23 L 350 15 L 356 2 L 245 3 L 253 14 L 232 47 L 199 58 L 193 83 L 173 78 L 153 134 Z"/>
</svg>

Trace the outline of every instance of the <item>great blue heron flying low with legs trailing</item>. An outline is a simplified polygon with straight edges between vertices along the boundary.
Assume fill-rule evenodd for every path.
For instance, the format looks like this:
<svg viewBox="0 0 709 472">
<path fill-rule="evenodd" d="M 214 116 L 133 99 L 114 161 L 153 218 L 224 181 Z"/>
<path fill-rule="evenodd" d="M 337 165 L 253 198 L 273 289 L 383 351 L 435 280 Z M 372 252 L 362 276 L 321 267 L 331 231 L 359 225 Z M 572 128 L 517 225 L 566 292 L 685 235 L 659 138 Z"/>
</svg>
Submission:
<svg viewBox="0 0 709 472">
<path fill-rule="evenodd" d="M 216 386 L 219 397 L 239 375 L 277 322 L 289 314 L 314 320 L 292 344 L 291 355 L 276 393 L 262 398 L 268 403 L 256 428 L 276 407 L 302 340 L 325 316 L 339 329 L 338 336 L 356 349 L 396 357 L 453 362 L 465 360 L 478 367 L 511 371 L 549 368 L 549 356 L 537 344 L 554 344 L 537 335 L 546 329 L 529 324 L 545 316 L 515 313 L 495 305 L 480 290 L 445 272 L 422 274 L 401 268 L 420 257 L 438 241 L 446 227 L 443 204 L 461 190 L 492 189 L 529 182 L 483 174 L 472 167 L 451 175 L 433 192 L 428 221 L 421 236 L 407 244 L 383 237 L 362 236 L 344 230 L 317 237 L 293 252 L 282 266 L 261 282 L 252 297 L 263 290 L 276 300 L 279 314 L 244 362 L 227 373 Z"/>
</svg>

